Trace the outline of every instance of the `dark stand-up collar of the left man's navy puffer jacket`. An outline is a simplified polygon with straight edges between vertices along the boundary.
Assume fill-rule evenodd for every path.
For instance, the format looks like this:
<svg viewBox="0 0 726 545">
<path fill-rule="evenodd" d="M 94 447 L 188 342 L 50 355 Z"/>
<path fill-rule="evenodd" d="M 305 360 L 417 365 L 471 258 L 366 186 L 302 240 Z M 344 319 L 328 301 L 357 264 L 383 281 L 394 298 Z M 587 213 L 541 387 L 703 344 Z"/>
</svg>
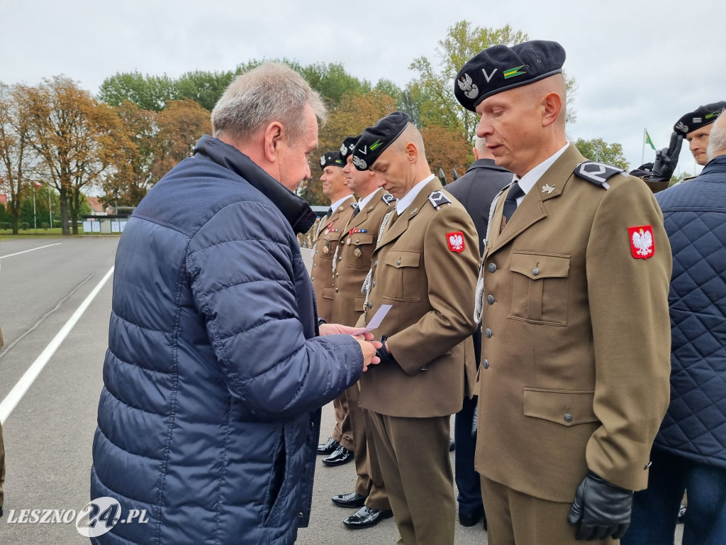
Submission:
<svg viewBox="0 0 726 545">
<path fill-rule="evenodd" d="M 295 233 L 307 233 L 315 222 L 315 212 L 303 198 L 267 174 L 237 148 L 205 134 L 194 147 L 196 157 L 205 157 L 231 170 L 269 198 Z"/>
</svg>

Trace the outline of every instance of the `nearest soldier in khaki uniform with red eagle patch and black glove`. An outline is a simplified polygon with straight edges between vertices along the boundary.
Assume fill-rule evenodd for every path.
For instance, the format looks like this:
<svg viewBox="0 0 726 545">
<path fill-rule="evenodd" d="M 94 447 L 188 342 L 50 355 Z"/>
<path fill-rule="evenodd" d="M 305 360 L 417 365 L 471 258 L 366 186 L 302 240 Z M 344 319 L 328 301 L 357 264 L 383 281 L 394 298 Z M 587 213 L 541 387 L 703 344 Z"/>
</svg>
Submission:
<svg viewBox="0 0 726 545">
<path fill-rule="evenodd" d="M 623 536 L 669 399 L 663 216 L 643 181 L 566 141 L 564 59 L 551 41 L 499 45 L 454 84 L 515 173 L 494 201 L 477 301 L 493 545 Z"/>
</svg>

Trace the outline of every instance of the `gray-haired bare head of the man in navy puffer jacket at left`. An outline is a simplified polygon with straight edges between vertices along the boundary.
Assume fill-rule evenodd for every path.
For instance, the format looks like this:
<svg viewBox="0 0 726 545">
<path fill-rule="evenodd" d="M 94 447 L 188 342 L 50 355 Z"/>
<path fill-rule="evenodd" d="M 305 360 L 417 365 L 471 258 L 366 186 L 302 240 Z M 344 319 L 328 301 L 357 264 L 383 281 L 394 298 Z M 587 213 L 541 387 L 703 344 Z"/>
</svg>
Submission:
<svg viewBox="0 0 726 545">
<path fill-rule="evenodd" d="M 213 136 L 245 153 L 290 190 L 309 179 L 325 105 L 291 68 L 266 62 L 237 76 L 212 110 Z"/>
</svg>

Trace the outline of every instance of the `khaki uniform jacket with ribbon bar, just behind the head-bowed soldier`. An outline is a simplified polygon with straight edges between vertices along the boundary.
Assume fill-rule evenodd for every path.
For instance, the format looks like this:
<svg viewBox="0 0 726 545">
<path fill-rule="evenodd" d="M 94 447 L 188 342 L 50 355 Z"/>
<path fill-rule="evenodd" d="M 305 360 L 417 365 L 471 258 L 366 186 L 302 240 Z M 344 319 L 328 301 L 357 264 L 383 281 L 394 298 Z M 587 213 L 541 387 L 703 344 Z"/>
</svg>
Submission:
<svg viewBox="0 0 726 545">
<path fill-rule="evenodd" d="M 396 199 L 379 189 L 343 230 L 338 247 L 338 262 L 333 273 L 333 323 L 355 326 L 363 313 L 365 295 L 361 292 L 372 263 L 383 216 L 394 209 Z"/>
</svg>

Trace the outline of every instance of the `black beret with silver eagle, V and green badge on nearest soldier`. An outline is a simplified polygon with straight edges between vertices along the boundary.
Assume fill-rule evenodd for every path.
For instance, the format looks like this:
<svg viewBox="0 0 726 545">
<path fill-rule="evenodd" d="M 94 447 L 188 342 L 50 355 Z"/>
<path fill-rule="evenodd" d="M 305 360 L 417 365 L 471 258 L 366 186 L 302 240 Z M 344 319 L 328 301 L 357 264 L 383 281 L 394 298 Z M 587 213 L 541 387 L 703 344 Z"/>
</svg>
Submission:
<svg viewBox="0 0 726 545">
<path fill-rule="evenodd" d="M 476 111 L 486 97 L 561 73 L 564 63 L 565 50 L 556 41 L 488 47 L 459 70 L 454 94 L 464 108 Z"/>
</svg>

